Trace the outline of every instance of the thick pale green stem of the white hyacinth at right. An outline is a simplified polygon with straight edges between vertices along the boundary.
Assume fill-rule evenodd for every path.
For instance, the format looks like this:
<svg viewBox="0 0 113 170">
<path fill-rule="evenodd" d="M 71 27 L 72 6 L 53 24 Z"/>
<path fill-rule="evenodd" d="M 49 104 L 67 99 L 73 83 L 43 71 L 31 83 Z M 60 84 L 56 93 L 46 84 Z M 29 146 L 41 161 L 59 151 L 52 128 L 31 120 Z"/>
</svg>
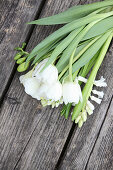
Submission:
<svg viewBox="0 0 113 170">
<path fill-rule="evenodd" d="M 83 102 L 79 102 L 78 105 L 75 106 L 74 108 L 74 111 L 73 111 L 73 114 L 72 114 L 72 121 L 74 121 L 78 115 L 80 114 L 81 110 L 84 110 L 85 106 L 86 106 L 86 103 L 87 103 L 87 100 L 91 94 L 91 91 L 92 91 L 92 87 L 93 87 L 93 83 L 94 83 L 94 80 L 95 80 L 95 77 L 97 75 L 97 72 L 102 64 L 102 61 L 106 55 L 106 52 L 109 48 L 109 45 L 110 45 L 110 42 L 112 40 L 112 36 L 113 36 L 113 33 L 110 32 L 110 35 L 108 37 L 108 39 L 106 40 L 105 44 L 103 45 L 101 51 L 100 51 L 100 54 L 98 56 L 98 59 L 93 67 L 93 70 L 88 78 L 88 81 L 83 89 L 83 92 L 82 92 L 82 95 L 83 95 Z"/>
</svg>

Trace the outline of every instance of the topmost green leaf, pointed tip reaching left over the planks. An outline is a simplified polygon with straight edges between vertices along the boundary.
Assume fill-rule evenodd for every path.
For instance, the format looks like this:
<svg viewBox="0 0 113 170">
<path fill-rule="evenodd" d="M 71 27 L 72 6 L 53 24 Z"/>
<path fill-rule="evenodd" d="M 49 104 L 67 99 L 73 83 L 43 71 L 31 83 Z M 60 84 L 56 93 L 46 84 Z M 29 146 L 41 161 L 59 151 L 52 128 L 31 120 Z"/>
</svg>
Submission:
<svg viewBox="0 0 113 170">
<path fill-rule="evenodd" d="M 60 14 L 38 19 L 28 24 L 54 25 L 54 24 L 68 23 L 68 22 L 72 22 L 73 20 L 84 17 L 99 8 L 106 7 L 109 5 L 113 5 L 112 0 L 96 2 L 92 4 L 87 4 L 87 5 L 74 6 Z"/>
</svg>

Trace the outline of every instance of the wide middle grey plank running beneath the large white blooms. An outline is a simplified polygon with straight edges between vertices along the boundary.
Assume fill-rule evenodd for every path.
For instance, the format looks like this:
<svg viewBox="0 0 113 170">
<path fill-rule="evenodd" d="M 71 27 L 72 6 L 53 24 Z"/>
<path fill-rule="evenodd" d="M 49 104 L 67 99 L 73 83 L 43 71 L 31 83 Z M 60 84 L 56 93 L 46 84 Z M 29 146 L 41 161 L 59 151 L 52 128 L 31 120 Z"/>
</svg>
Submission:
<svg viewBox="0 0 113 170">
<path fill-rule="evenodd" d="M 62 10 L 62 8 L 67 8 L 68 5 L 70 5 L 69 1 L 62 2 L 59 0 L 56 2 L 49 0 L 47 1 L 41 16 L 52 15 L 53 13 L 58 12 L 58 10 Z M 29 51 L 32 49 L 33 46 L 55 29 L 56 27 L 37 26 L 33 31 L 33 36 L 30 39 L 27 50 Z M 49 153 L 50 156 L 52 157 L 52 153 L 57 153 L 55 158 L 52 157 L 52 162 L 54 162 L 53 166 L 55 166 L 71 129 L 72 122 L 65 121 L 64 118 L 60 117 L 60 108 L 55 111 L 50 108 L 42 109 L 39 102 L 24 93 L 18 77 L 19 74 L 17 73 L 1 108 L 0 169 L 14 169 L 35 129 L 38 139 L 33 139 L 34 142 L 37 139 L 36 144 L 40 146 L 38 149 L 43 151 L 44 157 L 47 155 L 43 150 L 46 142 L 47 144 L 45 146 L 47 149 L 49 149 L 50 145 L 52 147 Z M 50 121 L 48 119 L 50 119 Z M 36 128 L 37 126 L 39 129 Z M 58 126 L 59 128 L 57 128 Z M 54 135 L 55 131 L 56 134 Z M 29 159 L 31 158 L 32 155 L 30 155 Z M 45 168 L 46 163 L 42 163 L 42 165 L 45 165 Z M 27 166 L 30 164 L 31 162 L 29 161 Z"/>
</svg>

